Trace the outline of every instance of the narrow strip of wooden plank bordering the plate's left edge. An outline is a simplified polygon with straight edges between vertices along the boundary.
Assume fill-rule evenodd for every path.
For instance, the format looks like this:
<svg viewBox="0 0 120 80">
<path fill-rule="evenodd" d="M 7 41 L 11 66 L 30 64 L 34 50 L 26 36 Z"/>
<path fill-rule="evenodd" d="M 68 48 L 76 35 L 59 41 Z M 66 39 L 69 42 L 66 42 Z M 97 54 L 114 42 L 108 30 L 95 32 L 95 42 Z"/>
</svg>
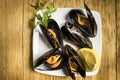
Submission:
<svg viewBox="0 0 120 80">
<path fill-rule="evenodd" d="M 29 20 L 32 17 L 32 10 L 29 7 L 29 4 L 33 0 L 24 0 L 24 16 L 23 16 L 23 80 L 33 80 L 34 71 L 32 68 L 32 30 L 29 27 Z M 38 79 L 36 75 L 36 80 Z"/>
</svg>

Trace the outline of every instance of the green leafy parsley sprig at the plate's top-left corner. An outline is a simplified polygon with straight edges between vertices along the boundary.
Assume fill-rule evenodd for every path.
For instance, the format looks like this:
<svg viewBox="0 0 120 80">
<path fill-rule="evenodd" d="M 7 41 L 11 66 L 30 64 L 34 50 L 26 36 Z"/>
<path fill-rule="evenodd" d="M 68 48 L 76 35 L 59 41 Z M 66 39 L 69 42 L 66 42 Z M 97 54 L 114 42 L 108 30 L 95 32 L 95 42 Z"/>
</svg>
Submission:
<svg viewBox="0 0 120 80">
<path fill-rule="evenodd" d="M 34 9 L 38 9 L 40 7 L 42 7 L 42 9 L 43 9 L 43 7 L 45 6 L 46 3 L 47 3 L 47 1 L 45 1 L 43 3 L 41 3 L 41 2 L 40 3 L 36 3 L 36 5 L 30 5 L 30 6 L 33 7 Z M 34 14 L 34 16 L 38 19 L 36 25 L 41 24 L 41 25 L 43 25 L 44 27 L 47 28 L 49 19 L 51 17 L 51 14 L 53 12 L 55 12 L 56 10 L 57 9 L 54 7 L 54 3 L 51 2 L 49 4 L 49 6 L 46 7 L 46 9 L 41 10 L 42 14 L 37 14 L 37 13 Z M 35 22 L 32 22 L 32 24 L 33 23 L 35 24 Z M 35 25 L 33 25 L 33 26 L 34 26 L 33 28 L 35 28 Z"/>
</svg>

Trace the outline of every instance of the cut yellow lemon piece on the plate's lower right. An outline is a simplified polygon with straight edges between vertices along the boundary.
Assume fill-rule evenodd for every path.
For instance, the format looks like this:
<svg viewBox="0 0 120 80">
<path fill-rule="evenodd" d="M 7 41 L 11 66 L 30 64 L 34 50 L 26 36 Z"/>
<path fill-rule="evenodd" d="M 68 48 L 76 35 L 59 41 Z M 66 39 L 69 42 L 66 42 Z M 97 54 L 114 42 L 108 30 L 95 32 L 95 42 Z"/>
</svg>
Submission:
<svg viewBox="0 0 120 80">
<path fill-rule="evenodd" d="M 90 48 L 81 48 L 78 50 L 78 54 L 83 60 L 87 72 L 91 72 L 99 68 L 100 57 L 95 50 Z"/>
</svg>

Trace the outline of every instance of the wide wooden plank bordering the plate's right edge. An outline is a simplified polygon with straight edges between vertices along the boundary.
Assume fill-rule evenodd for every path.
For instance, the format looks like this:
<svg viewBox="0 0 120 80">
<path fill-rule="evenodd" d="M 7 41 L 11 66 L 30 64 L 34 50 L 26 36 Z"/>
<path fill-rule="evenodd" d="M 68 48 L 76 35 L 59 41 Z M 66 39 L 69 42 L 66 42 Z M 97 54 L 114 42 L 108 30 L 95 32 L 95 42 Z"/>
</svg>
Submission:
<svg viewBox="0 0 120 80">
<path fill-rule="evenodd" d="M 85 80 L 116 80 L 116 15 L 114 0 L 87 0 L 88 6 L 101 15 L 102 60 L 96 76 Z"/>
</svg>

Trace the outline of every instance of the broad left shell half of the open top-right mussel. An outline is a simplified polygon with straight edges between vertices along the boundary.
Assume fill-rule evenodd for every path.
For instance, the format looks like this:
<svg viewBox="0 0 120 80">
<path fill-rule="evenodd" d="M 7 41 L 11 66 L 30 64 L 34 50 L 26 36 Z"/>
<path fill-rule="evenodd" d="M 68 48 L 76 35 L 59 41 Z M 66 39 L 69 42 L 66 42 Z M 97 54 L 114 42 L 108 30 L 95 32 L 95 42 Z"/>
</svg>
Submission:
<svg viewBox="0 0 120 80">
<path fill-rule="evenodd" d="M 84 35 L 86 35 L 87 37 L 94 37 L 94 26 L 91 26 L 91 21 L 89 21 L 89 19 L 86 17 L 85 13 L 82 10 L 79 9 L 72 9 L 69 12 L 69 19 L 70 21 L 76 26 L 78 27 L 83 33 Z M 82 16 L 84 19 L 84 24 L 80 24 L 78 22 L 78 15 Z M 95 27 L 96 28 L 96 27 Z"/>
</svg>

